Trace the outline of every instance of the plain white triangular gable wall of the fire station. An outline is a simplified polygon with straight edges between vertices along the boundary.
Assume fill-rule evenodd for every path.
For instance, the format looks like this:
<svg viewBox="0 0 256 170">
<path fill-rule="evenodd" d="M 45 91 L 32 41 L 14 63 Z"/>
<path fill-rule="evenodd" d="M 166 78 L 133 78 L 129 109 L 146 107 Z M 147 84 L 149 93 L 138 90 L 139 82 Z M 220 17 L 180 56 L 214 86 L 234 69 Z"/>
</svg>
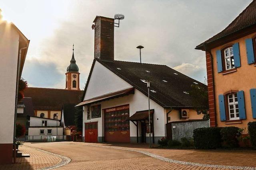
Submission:
<svg viewBox="0 0 256 170">
<path fill-rule="evenodd" d="M 95 62 L 84 100 L 132 87 L 98 61 Z"/>
</svg>

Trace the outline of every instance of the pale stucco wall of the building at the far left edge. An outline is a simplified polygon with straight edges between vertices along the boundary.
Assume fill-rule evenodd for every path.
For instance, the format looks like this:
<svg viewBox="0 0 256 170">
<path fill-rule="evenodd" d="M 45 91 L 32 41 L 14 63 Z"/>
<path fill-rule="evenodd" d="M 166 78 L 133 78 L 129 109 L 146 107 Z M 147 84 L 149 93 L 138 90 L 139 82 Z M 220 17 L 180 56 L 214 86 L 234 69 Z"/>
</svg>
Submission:
<svg viewBox="0 0 256 170">
<path fill-rule="evenodd" d="M 0 21 L 0 144 L 13 142 L 19 35 Z"/>
</svg>

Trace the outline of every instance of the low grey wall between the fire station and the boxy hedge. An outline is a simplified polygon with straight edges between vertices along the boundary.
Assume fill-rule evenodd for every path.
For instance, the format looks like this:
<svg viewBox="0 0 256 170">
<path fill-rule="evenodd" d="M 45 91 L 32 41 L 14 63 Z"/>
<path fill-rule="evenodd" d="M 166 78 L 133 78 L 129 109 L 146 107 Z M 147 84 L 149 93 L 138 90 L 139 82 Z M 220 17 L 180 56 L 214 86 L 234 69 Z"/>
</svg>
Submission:
<svg viewBox="0 0 256 170">
<path fill-rule="evenodd" d="M 166 133 L 168 139 L 175 139 L 180 141 L 180 138 L 193 137 L 193 131 L 200 127 L 210 127 L 209 120 L 188 120 L 188 121 L 176 121 L 166 124 Z"/>
</svg>

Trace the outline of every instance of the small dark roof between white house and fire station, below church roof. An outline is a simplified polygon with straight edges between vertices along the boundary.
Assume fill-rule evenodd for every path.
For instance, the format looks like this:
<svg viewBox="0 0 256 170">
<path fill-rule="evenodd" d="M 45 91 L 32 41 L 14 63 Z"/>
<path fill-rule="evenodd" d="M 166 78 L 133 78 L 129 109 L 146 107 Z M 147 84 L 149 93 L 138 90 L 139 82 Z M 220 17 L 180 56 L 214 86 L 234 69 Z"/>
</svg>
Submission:
<svg viewBox="0 0 256 170">
<path fill-rule="evenodd" d="M 63 104 L 63 118 L 64 118 L 64 123 L 65 126 L 73 126 L 75 125 L 74 120 L 75 120 L 75 106 L 76 104 Z"/>
</svg>

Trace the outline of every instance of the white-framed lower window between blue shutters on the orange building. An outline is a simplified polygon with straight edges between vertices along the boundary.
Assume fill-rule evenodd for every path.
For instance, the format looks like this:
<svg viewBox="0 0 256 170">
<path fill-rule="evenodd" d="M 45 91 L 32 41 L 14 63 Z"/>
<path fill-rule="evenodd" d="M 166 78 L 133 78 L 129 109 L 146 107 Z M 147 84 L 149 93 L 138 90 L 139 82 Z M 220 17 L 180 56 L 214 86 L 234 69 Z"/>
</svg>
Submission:
<svg viewBox="0 0 256 170">
<path fill-rule="evenodd" d="M 236 93 L 228 95 L 228 113 L 230 120 L 239 119 L 238 99 Z"/>
</svg>

